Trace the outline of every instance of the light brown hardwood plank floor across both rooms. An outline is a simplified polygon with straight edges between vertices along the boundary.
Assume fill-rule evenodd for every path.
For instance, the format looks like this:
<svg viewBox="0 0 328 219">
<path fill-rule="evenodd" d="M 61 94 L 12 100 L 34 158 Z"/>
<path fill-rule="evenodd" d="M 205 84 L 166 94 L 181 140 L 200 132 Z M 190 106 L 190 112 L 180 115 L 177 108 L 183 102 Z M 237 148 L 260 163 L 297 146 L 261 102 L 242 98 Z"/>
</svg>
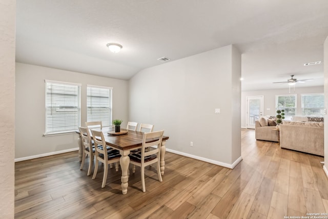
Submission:
<svg viewBox="0 0 328 219">
<path fill-rule="evenodd" d="M 146 168 L 130 169 L 128 194 L 120 170 L 103 168 L 95 180 L 88 162 L 79 170 L 77 152 L 15 164 L 15 218 L 284 218 L 328 212 L 328 180 L 320 156 L 256 141 L 242 129 L 243 161 L 233 170 L 166 153 L 163 182 Z M 169 144 L 169 142 L 168 142 Z"/>
</svg>

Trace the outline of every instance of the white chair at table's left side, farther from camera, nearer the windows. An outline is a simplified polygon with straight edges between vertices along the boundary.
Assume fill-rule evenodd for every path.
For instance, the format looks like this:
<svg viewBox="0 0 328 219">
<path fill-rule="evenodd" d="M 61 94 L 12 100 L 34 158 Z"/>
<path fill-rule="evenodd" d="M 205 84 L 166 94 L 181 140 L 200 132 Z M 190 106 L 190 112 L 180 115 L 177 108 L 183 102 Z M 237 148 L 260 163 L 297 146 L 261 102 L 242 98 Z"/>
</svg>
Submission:
<svg viewBox="0 0 328 219">
<path fill-rule="evenodd" d="M 91 136 L 89 133 L 89 129 L 88 128 L 84 128 L 84 127 L 78 127 L 78 129 L 80 130 L 80 136 L 81 136 L 81 142 L 82 142 L 82 162 L 81 162 L 81 166 L 80 166 L 80 170 L 83 169 L 84 163 L 86 161 L 86 157 L 89 156 L 90 157 L 90 161 L 89 161 L 89 168 L 88 168 L 88 173 L 87 175 L 91 174 L 91 168 L 93 166 L 93 160 L 94 160 L 94 153 L 95 153 L 95 149 L 94 149 L 94 145 L 91 142 Z"/>
</svg>

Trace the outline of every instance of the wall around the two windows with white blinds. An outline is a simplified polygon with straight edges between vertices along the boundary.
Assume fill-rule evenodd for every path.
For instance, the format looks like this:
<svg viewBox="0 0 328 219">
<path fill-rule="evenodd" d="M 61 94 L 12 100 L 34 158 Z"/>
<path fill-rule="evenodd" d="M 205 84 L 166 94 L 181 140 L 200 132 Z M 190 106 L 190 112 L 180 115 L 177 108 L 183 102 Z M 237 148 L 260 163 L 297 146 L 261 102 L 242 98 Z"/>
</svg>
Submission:
<svg viewBox="0 0 328 219">
<path fill-rule="evenodd" d="M 128 81 L 16 63 L 15 157 L 77 148 L 77 134 L 44 137 L 45 79 L 81 84 L 81 126 L 87 118 L 87 85 L 113 87 L 113 119 L 128 122 Z"/>
</svg>

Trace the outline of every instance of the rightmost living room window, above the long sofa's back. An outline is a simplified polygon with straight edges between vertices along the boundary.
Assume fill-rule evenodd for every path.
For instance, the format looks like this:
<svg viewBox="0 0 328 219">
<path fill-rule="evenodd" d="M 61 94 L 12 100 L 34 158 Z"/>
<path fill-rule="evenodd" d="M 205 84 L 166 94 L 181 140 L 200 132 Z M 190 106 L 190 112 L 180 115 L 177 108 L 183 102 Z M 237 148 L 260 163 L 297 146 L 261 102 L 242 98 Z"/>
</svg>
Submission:
<svg viewBox="0 0 328 219">
<path fill-rule="evenodd" d="M 301 94 L 302 115 L 323 115 L 324 96 L 323 93 Z"/>
</svg>

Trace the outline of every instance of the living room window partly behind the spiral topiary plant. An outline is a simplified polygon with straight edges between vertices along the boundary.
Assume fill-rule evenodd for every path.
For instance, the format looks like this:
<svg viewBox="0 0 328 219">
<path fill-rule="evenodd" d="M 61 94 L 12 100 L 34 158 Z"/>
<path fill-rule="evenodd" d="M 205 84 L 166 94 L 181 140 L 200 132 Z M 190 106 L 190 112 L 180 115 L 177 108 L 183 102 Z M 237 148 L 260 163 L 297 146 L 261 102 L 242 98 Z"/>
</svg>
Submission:
<svg viewBox="0 0 328 219">
<path fill-rule="evenodd" d="M 290 120 L 296 115 L 296 94 L 276 95 L 276 110 L 285 110 L 285 120 Z"/>
</svg>

